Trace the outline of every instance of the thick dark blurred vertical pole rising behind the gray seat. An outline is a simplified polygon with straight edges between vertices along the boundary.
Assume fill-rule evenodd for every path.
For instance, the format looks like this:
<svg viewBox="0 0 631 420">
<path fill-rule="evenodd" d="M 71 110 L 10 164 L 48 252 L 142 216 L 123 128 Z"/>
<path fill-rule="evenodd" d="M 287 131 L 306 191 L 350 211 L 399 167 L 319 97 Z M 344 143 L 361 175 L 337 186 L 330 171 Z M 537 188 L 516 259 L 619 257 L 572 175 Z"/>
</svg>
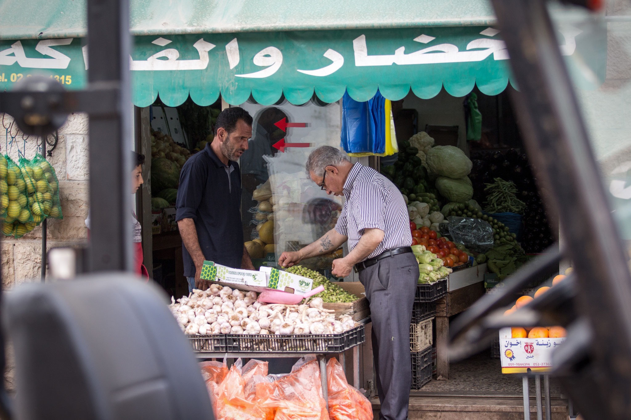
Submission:
<svg viewBox="0 0 631 420">
<path fill-rule="evenodd" d="M 129 0 L 88 2 L 88 88 L 118 89 L 115 111 L 90 115 L 89 271 L 132 269 L 130 45 Z"/>
</svg>

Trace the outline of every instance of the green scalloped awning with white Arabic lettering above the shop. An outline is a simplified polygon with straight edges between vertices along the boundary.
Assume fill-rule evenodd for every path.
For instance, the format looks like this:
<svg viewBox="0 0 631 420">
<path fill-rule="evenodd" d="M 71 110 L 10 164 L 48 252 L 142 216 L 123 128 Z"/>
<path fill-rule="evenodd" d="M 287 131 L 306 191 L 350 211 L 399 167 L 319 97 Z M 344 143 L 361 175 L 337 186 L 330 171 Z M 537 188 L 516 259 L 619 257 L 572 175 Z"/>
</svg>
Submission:
<svg viewBox="0 0 631 420">
<path fill-rule="evenodd" d="M 12 0 L 8 3 L 12 3 Z M 453 96 L 464 96 L 476 85 L 481 92 L 493 95 L 504 90 L 509 82 L 508 54 L 500 38 L 501 33 L 487 25 L 432 26 L 430 23 L 436 20 L 429 20 L 425 26 L 421 26 L 412 24 L 410 20 L 407 26 L 416 27 L 375 29 L 370 28 L 371 25 L 377 26 L 376 23 L 370 24 L 370 16 L 374 16 L 376 21 L 375 11 L 385 6 L 369 2 L 370 12 L 365 13 L 367 17 L 357 19 L 354 23 L 343 22 L 342 18 L 331 18 L 326 24 L 318 26 L 321 30 L 287 30 L 301 27 L 295 20 L 283 21 L 282 25 L 276 26 L 265 23 L 254 13 L 259 10 L 256 8 L 250 11 L 248 25 L 242 22 L 239 26 L 237 21 L 245 21 L 244 16 L 248 14 L 244 9 L 245 4 L 254 7 L 263 3 L 232 3 L 235 5 L 222 9 L 221 13 L 225 13 L 222 16 L 229 17 L 223 21 L 218 18 L 218 9 L 206 11 L 206 14 L 200 9 L 201 18 L 197 26 L 187 28 L 188 33 L 167 35 L 165 32 L 170 30 L 184 32 L 182 25 L 186 26 L 193 19 L 193 6 L 186 8 L 186 13 L 176 13 L 184 6 L 179 3 L 169 6 L 171 3 L 167 0 L 133 2 L 132 14 L 138 13 L 143 5 L 153 13 L 146 16 L 145 20 L 132 20 L 135 33 L 155 32 L 154 35 L 134 37 L 130 66 L 135 105 L 148 106 L 159 95 L 166 105 L 177 106 L 189 94 L 199 105 L 215 102 L 220 94 L 233 105 L 244 103 L 250 96 L 263 105 L 271 105 L 283 95 L 291 103 L 300 105 L 309 101 L 314 93 L 324 102 L 334 102 L 346 90 L 353 99 L 366 101 L 374 96 L 377 89 L 386 98 L 398 100 L 404 98 L 410 89 L 420 98 L 432 98 L 442 88 Z M 350 2 L 357 6 L 356 3 Z M 444 3 L 451 3 L 454 8 L 457 4 L 464 4 L 456 0 Z M 28 4 L 25 5 L 27 9 L 31 7 Z M 162 4 L 165 9 L 158 10 L 153 4 Z M 187 4 L 199 5 L 196 2 Z M 331 4 L 322 4 L 324 6 L 316 10 L 324 13 L 324 9 Z M 4 6 L 5 3 L 0 6 L 0 16 Z M 412 8 L 411 3 L 407 6 L 418 9 Z M 53 7 L 45 4 L 43 9 Z M 298 15 L 307 17 L 296 6 L 286 7 L 295 8 Z M 434 6 L 430 11 L 440 8 Z M 166 16 L 164 10 L 167 9 L 170 11 L 170 24 L 165 25 L 165 28 L 169 28 L 165 30 L 160 28 L 159 22 Z M 466 14 L 471 9 L 464 10 Z M 383 13 L 391 19 L 388 25 L 403 25 L 402 15 L 389 15 L 388 11 Z M 218 28 L 224 28 L 221 25 L 232 22 L 228 26 L 236 26 L 243 31 L 209 31 L 208 26 L 199 22 L 206 21 L 205 16 L 210 15 Z M 445 16 L 456 19 L 448 13 Z M 471 16 L 473 13 L 466 14 L 468 20 L 462 22 L 469 24 L 475 21 Z M 2 23 L 1 19 L 0 27 L 8 25 Z M 305 20 L 304 26 L 315 27 L 317 22 L 319 18 L 312 16 Z M 33 19 L 33 25 L 41 27 L 43 31 L 42 25 L 45 23 Z M 60 24 L 50 18 L 46 25 L 57 28 L 55 25 Z M 369 28 L 348 29 L 353 25 Z M 338 26 L 345 29 L 331 29 Z M 18 25 L 21 30 L 25 27 Z M 191 28 L 208 31 L 191 33 Z M 256 31 L 263 28 L 270 30 Z M 54 29 L 54 34 L 61 34 L 60 30 Z M 83 33 L 83 29 L 71 30 L 71 26 L 65 33 L 73 35 L 75 30 L 77 36 Z M 20 34 L 19 31 L 14 33 Z M 589 57 L 572 61 L 584 64 L 579 72 L 584 74 L 587 87 L 599 86 L 604 80 L 606 32 L 604 35 L 594 35 L 589 31 L 584 33 L 579 28 L 567 27 L 560 31 L 559 36 L 563 54 Z M 3 37 L 6 37 L 6 33 L 3 33 Z M 0 40 L 0 89 L 10 89 L 21 77 L 28 77 L 37 71 L 56 77 L 68 89 L 82 89 L 86 82 L 86 48 L 85 38 Z"/>
</svg>

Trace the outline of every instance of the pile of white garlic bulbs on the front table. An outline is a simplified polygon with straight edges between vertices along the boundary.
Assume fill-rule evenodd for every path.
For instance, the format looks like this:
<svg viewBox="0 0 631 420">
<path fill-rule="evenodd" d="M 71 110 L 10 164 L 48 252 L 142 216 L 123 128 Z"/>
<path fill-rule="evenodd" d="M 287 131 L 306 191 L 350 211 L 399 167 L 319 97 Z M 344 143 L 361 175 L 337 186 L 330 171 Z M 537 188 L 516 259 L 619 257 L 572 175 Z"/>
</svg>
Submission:
<svg viewBox="0 0 631 420">
<path fill-rule="evenodd" d="M 193 289 L 177 302 L 171 297 L 169 308 L 189 335 L 341 334 L 356 326 L 350 315 L 335 319 L 319 297 L 303 305 L 264 304 L 256 298 L 256 292 L 213 284 L 208 290 Z"/>
</svg>

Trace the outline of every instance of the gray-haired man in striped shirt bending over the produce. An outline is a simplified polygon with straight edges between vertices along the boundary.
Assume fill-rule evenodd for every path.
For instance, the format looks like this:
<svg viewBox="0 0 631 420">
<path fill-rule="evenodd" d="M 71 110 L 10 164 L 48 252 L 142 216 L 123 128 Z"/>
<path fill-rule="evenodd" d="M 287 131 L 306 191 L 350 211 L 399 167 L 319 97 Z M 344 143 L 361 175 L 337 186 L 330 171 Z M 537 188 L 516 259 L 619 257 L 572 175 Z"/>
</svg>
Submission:
<svg viewBox="0 0 631 420">
<path fill-rule="evenodd" d="M 408 209 L 399 190 L 381 174 L 344 152 L 322 146 L 309 155 L 307 173 L 327 194 L 344 195 L 334 229 L 300 251 L 281 254 L 290 267 L 327 254 L 348 241 L 350 252 L 333 260 L 333 274 L 355 270 L 366 289 L 372 318 L 372 350 L 377 368 L 380 419 L 405 420 L 411 387 L 410 319 L 418 263 L 410 244 Z"/>
</svg>

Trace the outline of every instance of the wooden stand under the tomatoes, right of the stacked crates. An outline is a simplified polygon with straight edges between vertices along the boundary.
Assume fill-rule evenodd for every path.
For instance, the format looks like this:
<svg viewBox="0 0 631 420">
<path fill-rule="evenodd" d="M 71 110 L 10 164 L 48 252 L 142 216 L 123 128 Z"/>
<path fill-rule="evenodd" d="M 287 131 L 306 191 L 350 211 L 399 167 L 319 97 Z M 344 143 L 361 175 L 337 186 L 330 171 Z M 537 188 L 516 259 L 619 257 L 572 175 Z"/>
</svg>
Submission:
<svg viewBox="0 0 631 420">
<path fill-rule="evenodd" d="M 483 270 L 477 267 L 468 268 L 476 276 Z M 451 277 L 451 275 L 450 275 Z M 473 305 L 484 295 L 484 281 L 478 281 L 468 286 L 447 292 L 445 297 L 436 301 L 436 379 L 449 379 L 449 355 L 447 355 L 447 341 L 449 340 L 449 317 L 459 314 Z"/>
</svg>

